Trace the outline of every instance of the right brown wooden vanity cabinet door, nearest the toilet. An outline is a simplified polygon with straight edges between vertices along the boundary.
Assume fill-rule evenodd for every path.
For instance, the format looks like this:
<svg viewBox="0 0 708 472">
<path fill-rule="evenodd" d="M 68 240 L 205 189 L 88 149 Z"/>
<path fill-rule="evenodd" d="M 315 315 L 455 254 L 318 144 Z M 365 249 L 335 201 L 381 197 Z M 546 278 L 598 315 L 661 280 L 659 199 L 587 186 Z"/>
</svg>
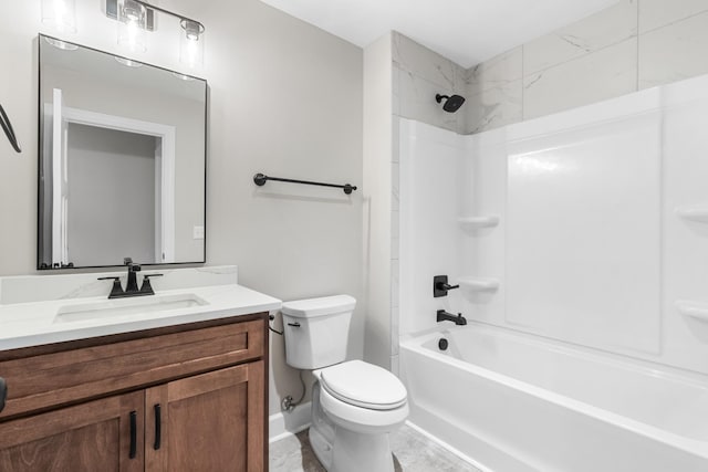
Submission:
<svg viewBox="0 0 708 472">
<path fill-rule="evenodd" d="M 259 360 L 148 389 L 146 470 L 266 470 L 263 378 Z"/>
</svg>

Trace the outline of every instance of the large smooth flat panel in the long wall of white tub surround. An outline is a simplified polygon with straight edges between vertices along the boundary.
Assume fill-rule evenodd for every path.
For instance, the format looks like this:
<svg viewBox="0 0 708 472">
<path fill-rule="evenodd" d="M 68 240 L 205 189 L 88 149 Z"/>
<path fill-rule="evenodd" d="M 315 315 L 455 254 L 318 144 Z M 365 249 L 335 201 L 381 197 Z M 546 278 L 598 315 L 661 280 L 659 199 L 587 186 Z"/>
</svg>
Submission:
<svg viewBox="0 0 708 472">
<path fill-rule="evenodd" d="M 616 117 L 565 113 L 546 119 L 543 134 L 508 134 L 508 324 L 659 353 L 663 115 L 652 109 L 655 98 L 647 95 L 648 109 L 636 115 L 617 104 Z"/>
</svg>

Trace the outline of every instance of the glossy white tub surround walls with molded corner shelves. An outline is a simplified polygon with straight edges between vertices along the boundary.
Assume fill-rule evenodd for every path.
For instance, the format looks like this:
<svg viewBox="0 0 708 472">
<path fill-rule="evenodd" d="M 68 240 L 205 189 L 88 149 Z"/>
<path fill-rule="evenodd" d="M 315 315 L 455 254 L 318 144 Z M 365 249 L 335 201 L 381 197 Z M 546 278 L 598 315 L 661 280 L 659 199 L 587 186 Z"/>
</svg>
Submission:
<svg viewBox="0 0 708 472">
<path fill-rule="evenodd" d="M 402 119 L 400 334 L 444 308 L 708 374 L 708 326 L 675 305 L 708 305 L 706 90 L 695 77 L 473 136 Z M 439 274 L 461 289 L 433 298 Z"/>
</svg>

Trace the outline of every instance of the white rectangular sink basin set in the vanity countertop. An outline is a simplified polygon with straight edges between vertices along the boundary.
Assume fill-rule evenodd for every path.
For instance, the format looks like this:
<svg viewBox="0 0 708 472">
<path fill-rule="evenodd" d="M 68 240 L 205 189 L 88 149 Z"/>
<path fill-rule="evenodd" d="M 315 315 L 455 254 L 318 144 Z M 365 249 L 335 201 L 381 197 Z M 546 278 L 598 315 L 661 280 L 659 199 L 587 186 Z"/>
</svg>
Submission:
<svg viewBox="0 0 708 472">
<path fill-rule="evenodd" d="M 86 319 L 104 319 L 110 317 L 168 312 L 208 305 L 194 293 L 176 295 L 150 295 L 135 298 L 106 300 L 97 303 L 64 305 L 56 311 L 54 323 L 83 322 Z"/>
</svg>

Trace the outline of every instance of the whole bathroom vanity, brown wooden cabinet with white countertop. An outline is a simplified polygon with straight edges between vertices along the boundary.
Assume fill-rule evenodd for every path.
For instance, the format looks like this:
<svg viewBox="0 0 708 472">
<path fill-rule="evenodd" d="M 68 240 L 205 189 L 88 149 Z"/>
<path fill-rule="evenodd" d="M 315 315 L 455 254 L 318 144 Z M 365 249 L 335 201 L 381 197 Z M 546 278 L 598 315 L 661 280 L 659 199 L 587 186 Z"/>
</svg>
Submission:
<svg viewBox="0 0 708 472">
<path fill-rule="evenodd" d="M 158 296 L 202 305 L 140 314 L 127 300 L 102 308 L 103 296 L 0 303 L 0 470 L 268 469 L 268 312 L 280 301 L 237 284 L 164 290 L 184 271 L 200 270 L 167 271 Z M 62 319 L 66 306 L 96 316 Z"/>
</svg>

